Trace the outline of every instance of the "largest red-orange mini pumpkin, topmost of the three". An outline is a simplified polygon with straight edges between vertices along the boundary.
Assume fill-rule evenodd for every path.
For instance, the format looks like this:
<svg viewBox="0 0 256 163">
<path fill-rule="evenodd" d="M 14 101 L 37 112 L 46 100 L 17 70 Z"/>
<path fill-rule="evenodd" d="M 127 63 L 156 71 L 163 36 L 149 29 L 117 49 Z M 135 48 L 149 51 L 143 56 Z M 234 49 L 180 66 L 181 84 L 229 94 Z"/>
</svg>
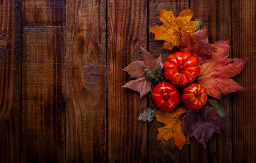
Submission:
<svg viewBox="0 0 256 163">
<path fill-rule="evenodd" d="M 189 51 L 169 55 L 163 69 L 165 78 L 180 86 L 193 82 L 200 75 L 198 57 L 193 57 Z"/>
</svg>

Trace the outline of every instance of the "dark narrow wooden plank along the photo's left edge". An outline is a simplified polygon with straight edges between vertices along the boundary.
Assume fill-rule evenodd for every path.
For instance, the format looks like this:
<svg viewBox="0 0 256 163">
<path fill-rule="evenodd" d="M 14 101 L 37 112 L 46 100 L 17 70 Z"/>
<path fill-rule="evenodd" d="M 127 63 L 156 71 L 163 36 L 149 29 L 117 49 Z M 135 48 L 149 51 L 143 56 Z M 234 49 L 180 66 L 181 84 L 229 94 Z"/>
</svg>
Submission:
<svg viewBox="0 0 256 163">
<path fill-rule="evenodd" d="M 21 6 L 0 1 L 0 163 L 20 162 Z"/>
</svg>

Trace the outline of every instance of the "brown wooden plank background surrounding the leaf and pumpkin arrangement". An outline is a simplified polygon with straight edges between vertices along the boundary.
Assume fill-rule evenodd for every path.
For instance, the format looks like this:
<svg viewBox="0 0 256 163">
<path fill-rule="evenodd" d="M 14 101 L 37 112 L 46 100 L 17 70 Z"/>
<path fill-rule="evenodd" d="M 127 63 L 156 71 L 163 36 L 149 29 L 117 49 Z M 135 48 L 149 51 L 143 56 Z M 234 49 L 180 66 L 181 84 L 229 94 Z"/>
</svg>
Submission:
<svg viewBox="0 0 256 163">
<path fill-rule="evenodd" d="M 234 78 L 245 90 L 221 98 L 225 133 L 180 151 L 137 120 L 148 97 L 122 88 L 122 68 L 138 44 L 166 60 L 149 29 L 188 6 L 250 60 Z M 255 40 L 255 0 L 0 0 L 0 163 L 255 163 Z"/>
</svg>

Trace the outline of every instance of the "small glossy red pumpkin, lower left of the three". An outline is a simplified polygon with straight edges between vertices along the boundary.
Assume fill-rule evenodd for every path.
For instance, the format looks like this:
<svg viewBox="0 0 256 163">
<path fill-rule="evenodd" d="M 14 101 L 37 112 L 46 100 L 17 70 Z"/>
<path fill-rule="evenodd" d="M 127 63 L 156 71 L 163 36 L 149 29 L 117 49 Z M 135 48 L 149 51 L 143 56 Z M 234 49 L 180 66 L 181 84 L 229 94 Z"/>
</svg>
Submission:
<svg viewBox="0 0 256 163">
<path fill-rule="evenodd" d="M 180 102 L 180 93 L 168 82 L 159 83 L 152 91 L 152 101 L 160 110 L 172 110 Z"/>
</svg>

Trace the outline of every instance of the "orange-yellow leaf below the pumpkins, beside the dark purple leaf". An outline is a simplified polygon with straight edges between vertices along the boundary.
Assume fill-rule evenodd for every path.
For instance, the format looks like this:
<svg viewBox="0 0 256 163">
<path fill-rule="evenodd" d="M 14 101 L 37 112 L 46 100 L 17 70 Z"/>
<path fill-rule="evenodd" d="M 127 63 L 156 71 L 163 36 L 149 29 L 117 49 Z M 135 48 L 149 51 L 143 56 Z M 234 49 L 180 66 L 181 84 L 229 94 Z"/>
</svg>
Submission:
<svg viewBox="0 0 256 163">
<path fill-rule="evenodd" d="M 157 121 L 165 124 L 164 127 L 158 128 L 158 140 L 168 141 L 174 137 L 175 145 L 177 145 L 180 150 L 184 144 L 189 144 L 189 139 L 185 139 L 182 132 L 182 116 L 186 112 L 186 108 L 176 107 L 171 111 L 155 111 L 155 118 Z"/>
</svg>

